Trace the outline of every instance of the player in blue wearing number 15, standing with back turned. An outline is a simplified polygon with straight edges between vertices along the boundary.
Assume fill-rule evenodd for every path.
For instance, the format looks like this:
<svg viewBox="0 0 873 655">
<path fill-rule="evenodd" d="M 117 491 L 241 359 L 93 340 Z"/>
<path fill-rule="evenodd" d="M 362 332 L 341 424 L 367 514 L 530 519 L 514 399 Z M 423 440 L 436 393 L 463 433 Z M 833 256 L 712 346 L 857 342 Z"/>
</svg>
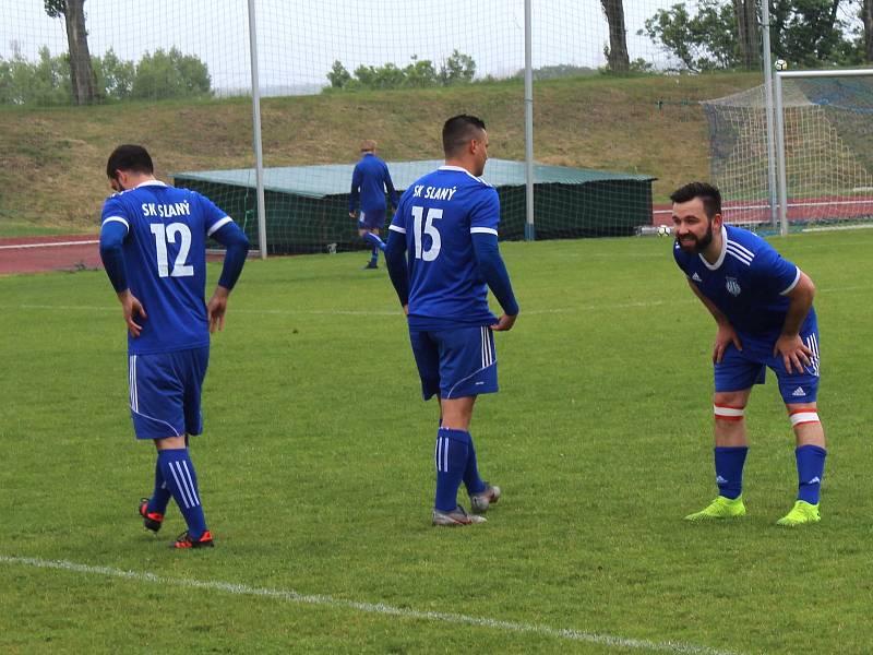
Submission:
<svg viewBox="0 0 873 655">
<path fill-rule="evenodd" d="M 432 522 L 454 526 L 483 522 L 479 514 L 500 499 L 500 488 L 479 477 L 469 425 L 476 397 L 498 391 L 492 331 L 512 329 L 518 303 L 498 249 L 498 192 L 479 177 L 488 159 L 485 123 L 450 118 L 443 150 L 445 166 L 403 194 L 385 261 L 408 317 L 422 395 L 440 397 Z M 489 287 L 500 319 L 488 307 Z M 475 514 L 457 503 L 462 481 Z"/>
</svg>

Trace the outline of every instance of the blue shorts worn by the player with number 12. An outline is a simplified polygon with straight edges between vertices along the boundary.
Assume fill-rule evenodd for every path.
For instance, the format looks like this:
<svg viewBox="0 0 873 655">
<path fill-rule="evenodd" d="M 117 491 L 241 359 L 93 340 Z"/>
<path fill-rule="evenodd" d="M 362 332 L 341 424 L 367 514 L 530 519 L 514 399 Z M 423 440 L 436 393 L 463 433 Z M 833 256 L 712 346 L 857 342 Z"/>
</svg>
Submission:
<svg viewBox="0 0 873 655">
<path fill-rule="evenodd" d="M 131 355 L 128 360 L 130 414 L 136 439 L 164 439 L 203 431 L 200 392 L 210 364 L 208 346 Z"/>
</svg>

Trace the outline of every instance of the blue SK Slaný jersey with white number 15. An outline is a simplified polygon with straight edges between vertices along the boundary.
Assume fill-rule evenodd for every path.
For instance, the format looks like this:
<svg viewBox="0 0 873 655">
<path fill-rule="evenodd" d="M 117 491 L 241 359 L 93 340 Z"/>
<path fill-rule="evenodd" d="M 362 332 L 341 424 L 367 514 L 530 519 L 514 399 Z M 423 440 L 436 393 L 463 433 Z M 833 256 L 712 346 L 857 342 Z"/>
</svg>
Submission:
<svg viewBox="0 0 873 655">
<path fill-rule="evenodd" d="M 497 235 L 499 223 L 497 190 L 464 168 L 441 166 L 406 190 L 388 229 L 406 238 L 410 327 L 497 322 L 470 235 Z"/>
</svg>

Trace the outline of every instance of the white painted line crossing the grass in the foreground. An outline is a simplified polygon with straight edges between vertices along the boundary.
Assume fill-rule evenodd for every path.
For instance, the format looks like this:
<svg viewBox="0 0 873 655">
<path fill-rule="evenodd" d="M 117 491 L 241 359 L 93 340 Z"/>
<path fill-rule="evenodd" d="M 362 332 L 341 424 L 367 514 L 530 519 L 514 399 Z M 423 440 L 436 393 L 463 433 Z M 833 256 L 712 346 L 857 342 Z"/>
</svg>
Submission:
<svg viewBox="0 0 873 655">
<path fill-rule="evenodd" d="M 177 587 L 210 590 L 215 592 L 224 592 L 227 594 L 235 594 L 239 596 L 255 596 L 264 598 L 276 598 L 278 600 L 287 600 L 289 603 L 298 603 L 302 605 L 313 605 L 330 607 L 335 609 L 352 609 L 367 614 L 400 617 L 403 619 L 412 619 L 420 621 L 435 621 L 439 623 L 453 623 L 464 626 L 476 626 L 479 628 L 489 628 L 499 632 L 521 632 L 534 633 L 552 639 L 587 642 L 598 644 L 601 646 L 614 648 L 636 648 L 639 651 L 651 651 L 660 653 L 681 653 L 683 655 L 736 655 L 730 651 L 718 651 L 708 646 L 697 646 L 695 644 L 686 644 L 681 642 L 654 642 L 645 639 L 630 639 L 623 636 L 615 636 L 612 634 L 598 634 L 594 632 L 583 632 L 581 630 L 573 630 L 571 628 L 551 628 L 541 623 L 522 623 L 517 621 L 503 621 L 500 619 L 489 619 L 483 617 L 473 617 L 467 615 L 447 614 L 440 611 L 421 611 L 416 609 L 407 609 L 403 607 L 394 607 L 383 603 L 363 603 L 359 600 L 347 600 L 344 598 L 334 598 L 322 594 L 307 595 L 295 592 L 294 590 L 272 590 L 265 587 L 252 587 L 246 584 L 237 584 L 231 582 L 210 581 L 210 580 L 191 580 L 186 577 L 164 577 L 155 575 L 154 573 L 140 572 L 140 571 L 124 571 L 122 569 L 112 569 L 110 567 L 92 567 L 89 564 L 80 564 L 76 562 L 69 562 L 64 560 L 44 560 L 29 557 L 9 557 L 0 555 L 0 563 L 10 565 L 32 567 L 36 569 L 56 569 L 61 571 L 71 571 L 73 573 L 83 573 L 86 575 L 104 575 L 108 577 L 122 577 L 125 580 L 134 580 L 137 582 L 148 582 L 153 584 L 169 585 Z"/>
</svg>

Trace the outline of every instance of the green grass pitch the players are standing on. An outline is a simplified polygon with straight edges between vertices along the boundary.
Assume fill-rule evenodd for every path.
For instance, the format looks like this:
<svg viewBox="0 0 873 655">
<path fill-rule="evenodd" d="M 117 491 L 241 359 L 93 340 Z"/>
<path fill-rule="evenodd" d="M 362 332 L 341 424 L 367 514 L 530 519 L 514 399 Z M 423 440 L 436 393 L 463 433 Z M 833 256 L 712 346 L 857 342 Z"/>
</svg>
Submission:
<svg viewBox="0 0 873 655">
<path fill-rule="evenodd" d="M 868 651 L 873 233 L 775 243 L 818 289 L 829 457 L 798 531 L 774 525 L 797 481 L 772 376 L 749 516 L 681 520 L 716 492 L 715 326 L 669 239 L 503 245 L 522 315 L 471 432 L 504 498 L 461 529 L 430 526 L 436 406 L 384 269 L 250 262 L 193 444 L 210 551 L 166 547 L 176 509 L 157 539 L 137 520 L 154 452 L 105 274 L 0 278 L 0 651 Z"/>
</svg>

